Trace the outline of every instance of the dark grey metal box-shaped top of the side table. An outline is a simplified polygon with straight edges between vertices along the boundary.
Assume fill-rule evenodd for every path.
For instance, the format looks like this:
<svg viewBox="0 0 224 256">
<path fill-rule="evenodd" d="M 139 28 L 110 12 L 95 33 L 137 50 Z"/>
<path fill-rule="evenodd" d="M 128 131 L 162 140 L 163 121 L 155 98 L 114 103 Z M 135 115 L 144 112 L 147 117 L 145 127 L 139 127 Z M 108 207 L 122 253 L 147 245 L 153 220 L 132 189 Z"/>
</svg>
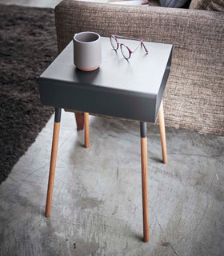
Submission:
<svg viewBox="0 0 224 256">
<path fill-rule="evenodd" d="M 138 42 L 122 40 L 130 49 Z M 102 65 L 84 72 L 73 62 L 73 42 L 39 78 L 41 102 L 141 122 L 155 122 L 170 73 L 172 45 L 146 42 L 129 61 L 102 38 Z"/>
</svg>

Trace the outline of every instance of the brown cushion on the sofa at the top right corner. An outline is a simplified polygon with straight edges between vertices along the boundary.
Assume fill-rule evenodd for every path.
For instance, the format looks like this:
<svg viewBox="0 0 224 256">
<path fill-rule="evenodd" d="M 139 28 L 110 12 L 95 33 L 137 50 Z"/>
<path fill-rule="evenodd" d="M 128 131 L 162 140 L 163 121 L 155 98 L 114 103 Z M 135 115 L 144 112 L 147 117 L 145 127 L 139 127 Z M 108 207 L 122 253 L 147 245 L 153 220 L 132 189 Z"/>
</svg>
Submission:
<svg viewBox="0 0 224 256">
<path fill-rule="evenodd" d="M 189 8 L 224 11 L 224 0 L 192 0 Z"/>
</svg>

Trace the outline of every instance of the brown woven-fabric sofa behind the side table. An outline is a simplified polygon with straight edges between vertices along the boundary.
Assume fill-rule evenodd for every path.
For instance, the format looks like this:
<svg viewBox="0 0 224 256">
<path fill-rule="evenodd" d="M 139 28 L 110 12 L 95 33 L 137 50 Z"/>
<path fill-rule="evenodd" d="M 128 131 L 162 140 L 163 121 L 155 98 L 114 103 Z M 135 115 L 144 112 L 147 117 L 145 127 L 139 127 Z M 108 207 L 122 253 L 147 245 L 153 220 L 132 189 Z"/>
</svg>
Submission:
<svg viewBox="0 0 224 256">
<path fill-rule="evenodd" d="M 166 126 L 224 135 L 224 12 L 216 10 L 224 1 L 205 8 L 197 1 L 212 2 L 192 0 L 184 9 L 156 0 L 144 7 L 64 0 L 55 7 L 58 52 L 87 30 L 173 44 L 163 98 Z"/>
</svg>

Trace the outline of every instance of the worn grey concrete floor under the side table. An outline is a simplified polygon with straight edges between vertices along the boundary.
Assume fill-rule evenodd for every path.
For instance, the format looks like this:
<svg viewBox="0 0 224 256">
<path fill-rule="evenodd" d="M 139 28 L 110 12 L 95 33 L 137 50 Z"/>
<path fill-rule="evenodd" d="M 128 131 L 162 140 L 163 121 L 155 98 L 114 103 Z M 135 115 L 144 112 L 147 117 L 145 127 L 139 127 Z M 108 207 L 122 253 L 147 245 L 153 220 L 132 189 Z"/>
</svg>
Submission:
<svg viewBox="0 0 224 256">
<path fill-rule="evenodd" d="M 150 242 L 142 242 L 139 126 L 90 117 L 90 148 L 62 113 L 44 217 L 54 118 L 0 186 L 0 255 L 223 255 L 224 138 L 148 125 Z M 75 245 L 75 246 L 74 246 Z"/>
</svg>

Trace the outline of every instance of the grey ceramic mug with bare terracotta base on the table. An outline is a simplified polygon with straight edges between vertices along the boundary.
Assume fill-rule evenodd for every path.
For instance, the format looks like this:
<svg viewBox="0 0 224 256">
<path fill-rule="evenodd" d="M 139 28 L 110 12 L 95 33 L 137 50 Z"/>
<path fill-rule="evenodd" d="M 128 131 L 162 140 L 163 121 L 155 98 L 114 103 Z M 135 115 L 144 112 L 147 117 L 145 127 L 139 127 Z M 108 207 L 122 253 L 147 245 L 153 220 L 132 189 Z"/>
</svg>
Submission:
<svg viewBox="0 0 224 256">
<path fill-rule="evenodd" d="M 74 34 L 74 65 L 79 70 L 92 71 L 102 63 L 101 38 L 98 33 L 85 31 Z"/>
</svg>

